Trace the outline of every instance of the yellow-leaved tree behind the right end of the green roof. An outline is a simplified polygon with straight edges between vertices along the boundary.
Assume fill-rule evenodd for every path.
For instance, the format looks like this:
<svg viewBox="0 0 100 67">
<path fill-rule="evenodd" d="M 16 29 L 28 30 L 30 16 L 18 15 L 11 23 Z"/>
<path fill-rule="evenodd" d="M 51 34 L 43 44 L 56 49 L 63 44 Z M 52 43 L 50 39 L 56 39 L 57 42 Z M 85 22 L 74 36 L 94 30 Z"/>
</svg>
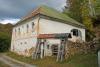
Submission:
<svg viewBox="0 0 100 67">
<path fill-rule="evenodd" d="M 92 11 L 91 11 L 91 6 L 89 6 L 89 0 L 84 0 L 84 2 L 81 5 L 82 22 L 90 31 L 93 30 L 93 22 L 91 18 L 92 16 L 91 13 Z"/>
</svg>

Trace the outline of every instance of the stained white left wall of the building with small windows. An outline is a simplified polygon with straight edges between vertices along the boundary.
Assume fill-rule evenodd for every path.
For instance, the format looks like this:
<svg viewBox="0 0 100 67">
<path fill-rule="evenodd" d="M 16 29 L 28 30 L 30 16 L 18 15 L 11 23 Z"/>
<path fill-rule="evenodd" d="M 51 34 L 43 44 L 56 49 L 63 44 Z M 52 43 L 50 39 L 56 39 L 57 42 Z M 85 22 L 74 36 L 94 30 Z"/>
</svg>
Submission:
<svg viewBox="0 0 100 67">
<path fill-rule="evenodd" d="M 32 23 L 35 26 L 32 29 Z M 13 28 L 12 31 L 12 41 L 11 41 L 11 51 L 17 52 L 21 55 L 25 55 L 25 50 L 29 50 L 36 46 L 37 42 L 37 22 L 38 18 L 28 21 Z M 29 25 L 29 31 L 27 33 L 27 24 Z M 20 34 L 18 34 L 18 28 L 20 28 Z M 15 33 L 16 29 L 16 33 Z M 33 32 L 32 32 L 33 30 Z"/>
</svg>

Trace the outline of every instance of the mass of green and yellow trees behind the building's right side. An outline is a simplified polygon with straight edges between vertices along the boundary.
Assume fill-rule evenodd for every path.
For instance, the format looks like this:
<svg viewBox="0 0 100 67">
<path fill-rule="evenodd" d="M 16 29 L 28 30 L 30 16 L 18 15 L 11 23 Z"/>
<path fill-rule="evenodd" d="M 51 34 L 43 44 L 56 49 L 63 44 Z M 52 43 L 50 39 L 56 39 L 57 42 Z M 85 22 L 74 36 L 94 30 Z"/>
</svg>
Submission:
<svg viewBox="0 0 100 67">
<path fill-rule="evenodd" d="M 87 41 L 95 37 L 93 26 L 100 22 L 100 0 L 67 0 L 63 12 L 86 26 Z"/>
</svg>

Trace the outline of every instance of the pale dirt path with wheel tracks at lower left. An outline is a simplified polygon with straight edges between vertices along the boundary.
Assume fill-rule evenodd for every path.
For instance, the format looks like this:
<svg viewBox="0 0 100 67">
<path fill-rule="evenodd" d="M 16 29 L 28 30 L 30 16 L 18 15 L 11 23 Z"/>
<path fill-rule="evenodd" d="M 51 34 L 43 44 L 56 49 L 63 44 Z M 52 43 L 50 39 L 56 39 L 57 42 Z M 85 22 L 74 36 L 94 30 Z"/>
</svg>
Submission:
<svg viewBox="0 0 100 67">
<path fill-rule="evenodd" d="M 36 67 L 34 65 L 26 64 L 24 62 L 17 61 L 12 59 L 5 54 L 0 54 L 0 61 L 4 62 L 5 64 L 9 65 L 10 67 Z"/>
</svg>

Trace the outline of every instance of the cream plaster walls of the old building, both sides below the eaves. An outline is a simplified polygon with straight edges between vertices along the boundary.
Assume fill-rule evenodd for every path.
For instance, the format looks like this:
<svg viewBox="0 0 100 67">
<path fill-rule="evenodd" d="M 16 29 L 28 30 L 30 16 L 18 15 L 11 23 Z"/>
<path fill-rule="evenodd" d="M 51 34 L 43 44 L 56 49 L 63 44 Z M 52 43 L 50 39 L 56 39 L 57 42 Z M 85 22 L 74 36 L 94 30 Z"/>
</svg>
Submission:
<svg viewBox="0 0 100 67">
<path fill-rule="evenodd" d="M 78 34 L 80 35 L 75 36 L 75 32 L 72 31 L 73 29 L 78 30 L 80 32 L 80 33 L 78 32 Z M 11 51 L 16 52 L 20 55 L 30 56 L 32 52 L 34 52 L 34 49 L 37 44 L 37 36 L 39 34 L 55 34 L 55 33 L 70 33 L 72 38 L 69 38 L 69 40 L 74 42 L 76 40 L 85 41 L 84 28 L 72 26 L 58 21 L 40 18 L 39 16 L 37 16 L 13 28 Z M 47 45 L 45 45 L 45 55 L 51 56 L 52 55 L 51 46 L 53 44 L 59 44 L 59 43 L 60 43 L 59 39 L 47 39 Z"/>
</svg>

